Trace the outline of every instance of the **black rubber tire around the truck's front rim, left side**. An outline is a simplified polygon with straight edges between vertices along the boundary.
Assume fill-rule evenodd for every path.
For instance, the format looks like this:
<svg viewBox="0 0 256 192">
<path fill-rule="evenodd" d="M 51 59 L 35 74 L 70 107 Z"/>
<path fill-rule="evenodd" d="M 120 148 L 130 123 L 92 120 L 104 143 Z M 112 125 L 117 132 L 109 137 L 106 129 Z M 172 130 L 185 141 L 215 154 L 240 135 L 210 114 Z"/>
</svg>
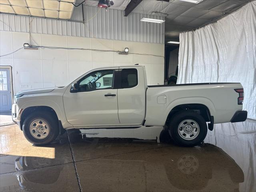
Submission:
<svg viewBox="0 0 256 192">
<path fill-rule="evenodd" d="M 34 120 L 43 120 L 45 121 L 49 126 L 49 133 L 48 135 L 43 139 L 37 139 L 32 136 L 30 133 L 30 124 Z M 22 130 L 24 133 L 24 136 L 26 139 L 35 145 L 46 145 L 50 144 L 53 140 L 55 140 L 59 134 L 59 126 L 58 126 L 58 120 L 54 118 L 52 114 L 47 114 L 44 112 L 34 112 L 33 114 L 30 114 L 24 121 Z"/>
</svg>

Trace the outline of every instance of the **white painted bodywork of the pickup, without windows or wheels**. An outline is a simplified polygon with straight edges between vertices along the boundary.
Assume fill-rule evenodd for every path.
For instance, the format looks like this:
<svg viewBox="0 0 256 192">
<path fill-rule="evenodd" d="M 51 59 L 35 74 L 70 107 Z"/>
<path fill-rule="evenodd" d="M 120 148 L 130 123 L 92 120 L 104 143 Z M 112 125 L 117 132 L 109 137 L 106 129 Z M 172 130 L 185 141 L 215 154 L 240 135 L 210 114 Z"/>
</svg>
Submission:
<svg viewBox="0 0 256 192">
<path fill-rule="evenodd" d="M 70 93 L 72 83 L 50 92 L 38 90 L 22 92 L 12 113 L 20 121 L 20 110 L 30 106 L 49 106 L 55 110 L 63 128 L 108 128 L 141 126 L 164 126 L 169 112 L 181 104 L 203 104 L 208 107 L 214 123 L 230 122 L 234 113 L 242 110 L 237 104 L 238 84 L 204 84 L 189 86 L 148 87 L 144 66 L 122 66 L 100 69 L 136 68 L 138 85 L 127 89 L 95 90 L 92 92 Z M 105 97 L 104 94 L 116 94 Z M 159 97 L 160 96 L 160 97 Z M 146 104 L 145 104 L 146 102 Z M 145 106 L 146 105 L 146 106 Z"/>
</svg>

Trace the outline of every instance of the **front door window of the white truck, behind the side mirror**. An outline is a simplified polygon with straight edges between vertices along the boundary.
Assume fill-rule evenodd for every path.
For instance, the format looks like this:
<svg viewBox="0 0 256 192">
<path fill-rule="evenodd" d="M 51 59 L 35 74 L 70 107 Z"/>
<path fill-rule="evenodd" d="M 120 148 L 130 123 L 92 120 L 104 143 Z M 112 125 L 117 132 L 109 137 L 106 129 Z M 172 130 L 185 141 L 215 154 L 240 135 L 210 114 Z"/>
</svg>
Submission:
<svg viewBox="0 0 256 192">
<path fill-rule="evenodd" d="M 78 81 L 79 92 L 112 89 L 114 70 L 94 71 Z"/>
</svg>

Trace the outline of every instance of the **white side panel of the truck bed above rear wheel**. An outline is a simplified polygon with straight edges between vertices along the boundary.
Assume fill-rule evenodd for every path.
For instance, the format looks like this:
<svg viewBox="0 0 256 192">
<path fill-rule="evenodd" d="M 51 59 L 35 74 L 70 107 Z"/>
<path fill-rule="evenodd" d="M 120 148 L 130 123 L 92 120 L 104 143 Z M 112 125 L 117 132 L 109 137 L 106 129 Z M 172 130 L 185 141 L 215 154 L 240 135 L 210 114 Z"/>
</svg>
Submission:
<svg viewBox="0 0 256 192">
<path fill-rule="evenodd" d="M 146 92 L 146 123 L 148 126 L 164 126 L 169 112 L 180 104 L 204 104 L 214 123 L 230 122 L 234 113 L 242 110 L 237 104 L 238 84 L 206 84 L 190 86 L 149 87 Z M 166 96 L 165 104 L 158 104 L 157 97 Z"/>
</svg>

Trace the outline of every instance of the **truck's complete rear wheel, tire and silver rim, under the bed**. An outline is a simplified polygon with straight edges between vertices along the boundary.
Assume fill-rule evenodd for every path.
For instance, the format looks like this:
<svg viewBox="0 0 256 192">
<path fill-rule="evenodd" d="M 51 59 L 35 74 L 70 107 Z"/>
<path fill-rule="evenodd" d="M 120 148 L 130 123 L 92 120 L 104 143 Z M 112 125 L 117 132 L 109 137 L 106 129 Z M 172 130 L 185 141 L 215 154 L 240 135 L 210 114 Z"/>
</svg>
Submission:
<svg viewBox="0 0 256 192">
<path fill-rule="evenodd" d="M 172 140 L 180 146 L 196 146 L 207 134 L 206 121 L 195 112 L 180 112 L 171 120 L 168 128 Z"/>
</svg>

